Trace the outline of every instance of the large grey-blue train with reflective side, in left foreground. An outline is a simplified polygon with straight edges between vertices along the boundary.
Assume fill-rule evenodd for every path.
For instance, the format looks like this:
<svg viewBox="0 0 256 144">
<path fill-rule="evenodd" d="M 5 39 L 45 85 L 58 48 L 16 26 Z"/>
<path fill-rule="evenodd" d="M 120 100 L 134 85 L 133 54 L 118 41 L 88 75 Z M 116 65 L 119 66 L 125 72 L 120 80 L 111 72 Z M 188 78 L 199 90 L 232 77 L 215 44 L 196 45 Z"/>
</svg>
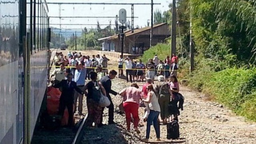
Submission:
<svg viewBox="0 0 256 144">
<path fill-rule="evenodd" d="M 0 1 L 0 144 L 29 144 L 45 98 L 46 0 Z"/>
</svg>

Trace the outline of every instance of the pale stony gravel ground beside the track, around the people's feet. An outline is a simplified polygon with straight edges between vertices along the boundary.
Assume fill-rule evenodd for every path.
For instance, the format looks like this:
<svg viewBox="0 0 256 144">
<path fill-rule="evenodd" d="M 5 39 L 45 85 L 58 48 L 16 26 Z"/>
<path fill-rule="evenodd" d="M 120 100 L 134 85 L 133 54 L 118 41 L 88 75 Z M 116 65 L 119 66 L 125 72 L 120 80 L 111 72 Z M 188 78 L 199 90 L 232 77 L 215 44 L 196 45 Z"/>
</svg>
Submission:
<svg viewBox="0 0 256 144">
<path fill-rule="evenodd" d="M 64 53 L 65 54 L 65 53 Z M 67 52 L 66 52 L 67 54 Z M 92 55 L 96 52 L 82 52 Z M 110 68 L 116 68 L 117 59 L 107 56 L 110 59 Z M 139 83 L 142 86 L 143 83 Z M 130 86 L 125 80 L 114 79 L 112 88 L 117 92 L 122 88 Z M 161 128 L 160 143 L 184 143 L 184 144 L 256 144 L 256 123 L 246 122 L 243 117 L 235 116 L 228 108 L 216 102 L 204 100 L 204 95 L 194 92 L 181 86 L 180 93 L 185 97 L 184 111 L 179 116 L 180 139 L 167 140 L 166 126 Z M 112 96 L 114 105 L 121 102 L 119 96 Z M 104 122 L 107 121 L 107 109 L 105 110 Z M 140 108 L 140 117 L 143 116 L 143 109 Z M 87 144 L 142 144 L 139 139 L 144 138 L 145 126 L 141 127 L 141 134 L 127 133 L 124 115 L 115 113 L 117 126 L 107 126 L 102 130 L 90 129 L 88 136 L 84 139 Z M 114 134 L 114 138 L 111 138 Z M 94 139 L 91 136 L 94 135 Z M 119 138 L 117 138 L 119 137 Z M 155 139 L 153 126 L 150 132 L 150 142 Z"/>
</svg>

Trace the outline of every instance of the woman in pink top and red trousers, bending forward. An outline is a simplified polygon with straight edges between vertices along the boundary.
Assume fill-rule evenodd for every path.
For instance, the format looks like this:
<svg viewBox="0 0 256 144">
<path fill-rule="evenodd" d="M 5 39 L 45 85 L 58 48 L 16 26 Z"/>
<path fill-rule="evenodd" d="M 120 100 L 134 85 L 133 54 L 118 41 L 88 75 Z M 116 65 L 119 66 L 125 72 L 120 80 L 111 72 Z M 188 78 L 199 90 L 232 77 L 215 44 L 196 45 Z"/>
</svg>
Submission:
<svg viewBox="0 0 256 144">
<path fill-rule="evenodd" d="M 127 131 L 130 131 L 130 125 L 132 118 L 134 119 L 134 129 L 139 134 L 140 131 L 138 130 L 138 124 L 140 121 L 138 115 L 138 109 L 141 99 L 141 90 L 138 89 L 139 86 L 137 84 L 132 84 L 128 88 L 124 88 L 119 92 L 120 96 L 123 96 L 123 106 L 124 112 L 126 115 L 126 123 L 127 123 Z M 132 114 L 132 118 L 131 118 Z"/>
</svg>

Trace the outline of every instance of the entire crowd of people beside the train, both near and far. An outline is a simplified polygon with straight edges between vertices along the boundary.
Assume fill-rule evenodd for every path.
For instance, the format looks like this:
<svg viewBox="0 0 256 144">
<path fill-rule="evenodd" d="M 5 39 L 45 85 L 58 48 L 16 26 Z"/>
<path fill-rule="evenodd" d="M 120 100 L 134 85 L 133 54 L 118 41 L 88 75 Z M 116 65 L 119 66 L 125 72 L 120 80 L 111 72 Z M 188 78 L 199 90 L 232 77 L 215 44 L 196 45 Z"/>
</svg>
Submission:
<svg viewBox="0 0 256 144">
<path fill-rule="evenodd" d="M 118 60 L 119 75 L 123 75 L 122 66 L 125 64 L 127 82 L 132 82 L 128 88 L 124 88 L 120 92 L 112 90 L 111 80 L 116 78 L 118 74 L 115 70 L 108 73 L 106 69 L 109 59 L 105 55 L 82 56 L 81 53 L 69 52 L 67 56 L 56 53 L 55 65 L 60 66 L 56 68 L 51 77 L 55 75 L 55 80 L 52 81 L 52 86 L 60 88 L 62 94 L 60 96 L 59 114 L 63 116 L 64 109 L 68 108 L 69 119 L 68 125 L 73 126 L 73 114 L 76 112 L 76 107 L 73 110 L 73 104 L 76 106 L 78 99 L 78 114 L 82 115 L 82 100 L 86 96 L 86 105 L 88 108 L 88 118 L 86 120 L 87 126 L 102 127 L 104 107 L 100 106 L 100 98 L 97 92 L 102 96 L 106 96 L 110 100 L 108 108 L 108 124 L 115 124 L 114 122 L 114 104 L 110 94 L 116 96 L 120 95 L 123 98 L 123 107 L 126 114 L 127 131 L 130 131 L 131 122 L 134 124 L 134 130 L 140 133 L 138 124 L 140 116 L 138 114 L 139 107 L 145 107 L 145 114 L 143 121 L 147 122 L 146 138 L 148 141 L 150 135 L 150 127 L 153 124 L 156 131 L 156 138 L 160 141 L 160 126 L 159 115 L 162 119 L 162 124 L 167 123 L 170 116 L 168 104 L 172 102 L 176 104 L 179 98 L 179 84 L 176 77 L 176 70 L 178 69 L 176 56 L 170 60 L 167 57 L 164 62 L 159 60 L 157 55 L 148 61 L 146 65 L 141 60 L 138 62 L 130 58 L 122 59 L 120 56 Z M 67 59 L 68 58 L 68 59 Z M 58 60 L 57 60 L 58 59 Z M 65 68 L 71 66 L 71 68 Z M 169 66 L 169 67 L 168 67 Z M 164 71 L 166 70 L 166 71 Z M 169 72 L 169 73 L 168 73 Z M 155 76 L 158 76 L 157 82 L 154 82 Z M 86 78 L 90 78 L 90 82 L 86 83 Z M 136 81 L 146 81 L 142 86 L 142 90 Z M 176 109 L 182 109 L 182 103 Z M 176 111 L 177 111 L 176 110 Z M 179 112 L 174 116 L 178 120 Z M 93 125 L 94 124 L 94 125 Z"/>
</svg>

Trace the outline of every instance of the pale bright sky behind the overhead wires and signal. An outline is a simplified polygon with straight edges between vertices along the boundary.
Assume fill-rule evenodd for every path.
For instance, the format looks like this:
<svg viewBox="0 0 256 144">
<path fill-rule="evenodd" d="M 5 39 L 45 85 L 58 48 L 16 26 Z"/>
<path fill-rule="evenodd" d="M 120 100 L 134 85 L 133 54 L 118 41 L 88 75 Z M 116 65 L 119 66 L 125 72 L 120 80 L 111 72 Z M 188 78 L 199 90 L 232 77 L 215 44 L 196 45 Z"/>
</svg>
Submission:
<svg viewBox="0 0 256 144">
<path fill-rule="evenodd" d="M 94 2 L 94 3 L 151 3 L 151 0 L 46 0 L 46 2 Z M 154 11 L 160 10 L 162 12 L 168 10 L 168 5 L 171 0 L 154 0 L 154 3 L 161 3 L 161 5 L 154 5 Z M 59 5 L 48 4 L 49 16 L 59 16 Z M 127 17 L 132 15 L 131 5 L 61 5 L 61 16 L 116 16 L 121 8 L 126 9 Z M 134 5 L 134 27 L 146 26 L 147 21 L 151 17 L 150 5 Z M 115 18 L 64 18 L 61 20 L 62 24 L 115 24 Z M 131 18 L 127 18 L 127 21 Z M 119 22 L 118 22 L 119 23 Z M 59 18 L 50 18 L 50 24 L 60 24 Z M 59 25 L 50 25 L 60 28 Z M 62 25 L 62 28 L 84 28 L 85 26 L 70 26 Z M 106 26 L 101 26 L 104 28 Z M 88 25 L 87 29 L 96 28 L 96 26 Z M 112 26 L 114 28 L 114 26 Z"/>
</svg>

